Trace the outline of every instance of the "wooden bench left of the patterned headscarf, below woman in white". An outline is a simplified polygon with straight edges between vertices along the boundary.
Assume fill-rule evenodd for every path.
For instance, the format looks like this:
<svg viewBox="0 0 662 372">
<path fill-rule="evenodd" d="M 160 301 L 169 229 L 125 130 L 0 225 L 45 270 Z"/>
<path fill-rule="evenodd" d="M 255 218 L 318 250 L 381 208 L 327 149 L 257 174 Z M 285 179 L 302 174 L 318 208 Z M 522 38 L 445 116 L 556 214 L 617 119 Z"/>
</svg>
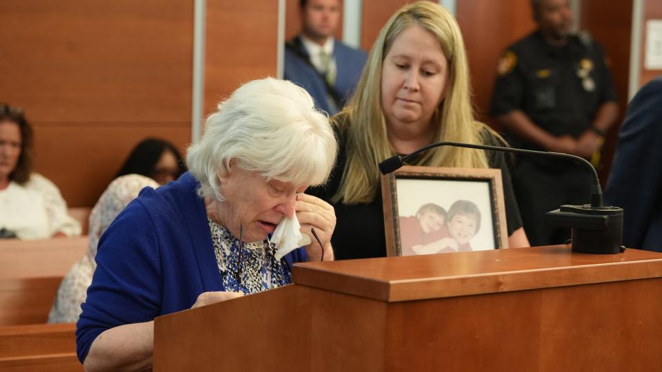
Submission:
<svg viewBox="0 0 662 372">
<path fill-rule="evenodd" d="M 87 251 L 87 236 L 1 241 L 0 326 L 45 323 L 62 278 Z"/>
</svg>

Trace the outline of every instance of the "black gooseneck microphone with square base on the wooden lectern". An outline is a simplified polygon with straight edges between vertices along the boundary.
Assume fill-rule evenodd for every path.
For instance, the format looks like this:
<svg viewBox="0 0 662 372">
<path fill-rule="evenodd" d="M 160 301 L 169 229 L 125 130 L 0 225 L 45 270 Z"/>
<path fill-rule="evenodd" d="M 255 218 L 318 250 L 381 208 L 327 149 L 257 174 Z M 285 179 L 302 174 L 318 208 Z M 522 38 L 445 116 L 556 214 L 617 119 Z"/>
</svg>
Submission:
<svg viewBox="0 0 662 372">
<path fill-rule="evenodd" d="M 591 163 L 579 156 L 563 154 L 562 152 L 544 152 L 514 147 L 491 145 L 474 145 L 472 143 L 438 142 L 421 147 L 411 154 L 392 156 L 379 163 L 381 174 L 390 174 L 406 165 L 414 156 L 428 149 L 440 146 L 466 147 L 470 149 L 487 149 L 499 152 L 514 152 L 532 156 L 563 158 L 579 162 L 588 168 L 593 176 L 591 185 L 591 203 L 589 205 L 561 205 L 559 209 L 545 214 L 545 223 L 552 227 L 570 227 L 572 229 L 572 251 L 590 254 L 616 254 L 623 251 L 621 238 L 623 236 L 623 209 L 603 205 L 602 188 L 598 172 Z"/>
</svg>

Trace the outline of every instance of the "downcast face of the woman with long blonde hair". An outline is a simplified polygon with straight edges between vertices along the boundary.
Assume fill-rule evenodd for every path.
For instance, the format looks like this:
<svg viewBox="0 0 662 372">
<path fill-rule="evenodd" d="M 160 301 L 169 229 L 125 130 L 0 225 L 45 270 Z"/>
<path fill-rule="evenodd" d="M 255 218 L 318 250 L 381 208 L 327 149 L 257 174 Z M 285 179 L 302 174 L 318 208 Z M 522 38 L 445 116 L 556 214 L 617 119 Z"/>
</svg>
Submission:
<svg viewBox="0 0 662 372">
<path fill-rule="evenodd" d="M 387 125 L 428 130 L 447 81 L 448 61 L 439 41 L 418 25 L 404 30 L 393 41 L 382 66 L 381 107 Z"/>
</svg>

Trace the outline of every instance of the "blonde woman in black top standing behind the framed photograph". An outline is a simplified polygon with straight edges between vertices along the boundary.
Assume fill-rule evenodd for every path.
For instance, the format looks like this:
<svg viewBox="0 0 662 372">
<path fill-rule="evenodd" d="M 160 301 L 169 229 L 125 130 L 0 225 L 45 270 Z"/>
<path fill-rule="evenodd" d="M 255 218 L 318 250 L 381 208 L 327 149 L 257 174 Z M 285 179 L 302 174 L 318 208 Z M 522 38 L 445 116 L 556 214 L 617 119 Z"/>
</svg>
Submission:
<svg viewBox="0 0 662 372">
<path fill-rule="evenodd" d="M 439 4 L 399 9 L 374 42 L 357 91 L 332 118 L 340 152 L 327 187 L 310 192 L 332 203 L 337 259 L 386 256 L 377 164 L 441 141 L 505 145 L 474 119 L 459 26 Z M 437 147 L 410 165 L 501 168 L 509 247 L 528 246 L 503 153 Z"/>
</svg>

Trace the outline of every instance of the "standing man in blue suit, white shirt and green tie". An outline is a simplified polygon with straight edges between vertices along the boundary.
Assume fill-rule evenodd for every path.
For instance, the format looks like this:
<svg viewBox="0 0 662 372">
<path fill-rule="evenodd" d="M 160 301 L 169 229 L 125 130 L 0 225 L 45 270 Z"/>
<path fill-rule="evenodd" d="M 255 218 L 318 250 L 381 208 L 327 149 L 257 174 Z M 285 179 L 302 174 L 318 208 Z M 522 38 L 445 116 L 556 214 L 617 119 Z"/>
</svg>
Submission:
<svg viewBox="0 0 662 372">
<path fill-rule="evenodd" d="M 302 30 L 285 44 L 285 79 L 308 90 L 317 106 L 335 114 L 354 92 L 367 55 L 337 41 L 339 0 L 301 0 Z"/>
</svg>

